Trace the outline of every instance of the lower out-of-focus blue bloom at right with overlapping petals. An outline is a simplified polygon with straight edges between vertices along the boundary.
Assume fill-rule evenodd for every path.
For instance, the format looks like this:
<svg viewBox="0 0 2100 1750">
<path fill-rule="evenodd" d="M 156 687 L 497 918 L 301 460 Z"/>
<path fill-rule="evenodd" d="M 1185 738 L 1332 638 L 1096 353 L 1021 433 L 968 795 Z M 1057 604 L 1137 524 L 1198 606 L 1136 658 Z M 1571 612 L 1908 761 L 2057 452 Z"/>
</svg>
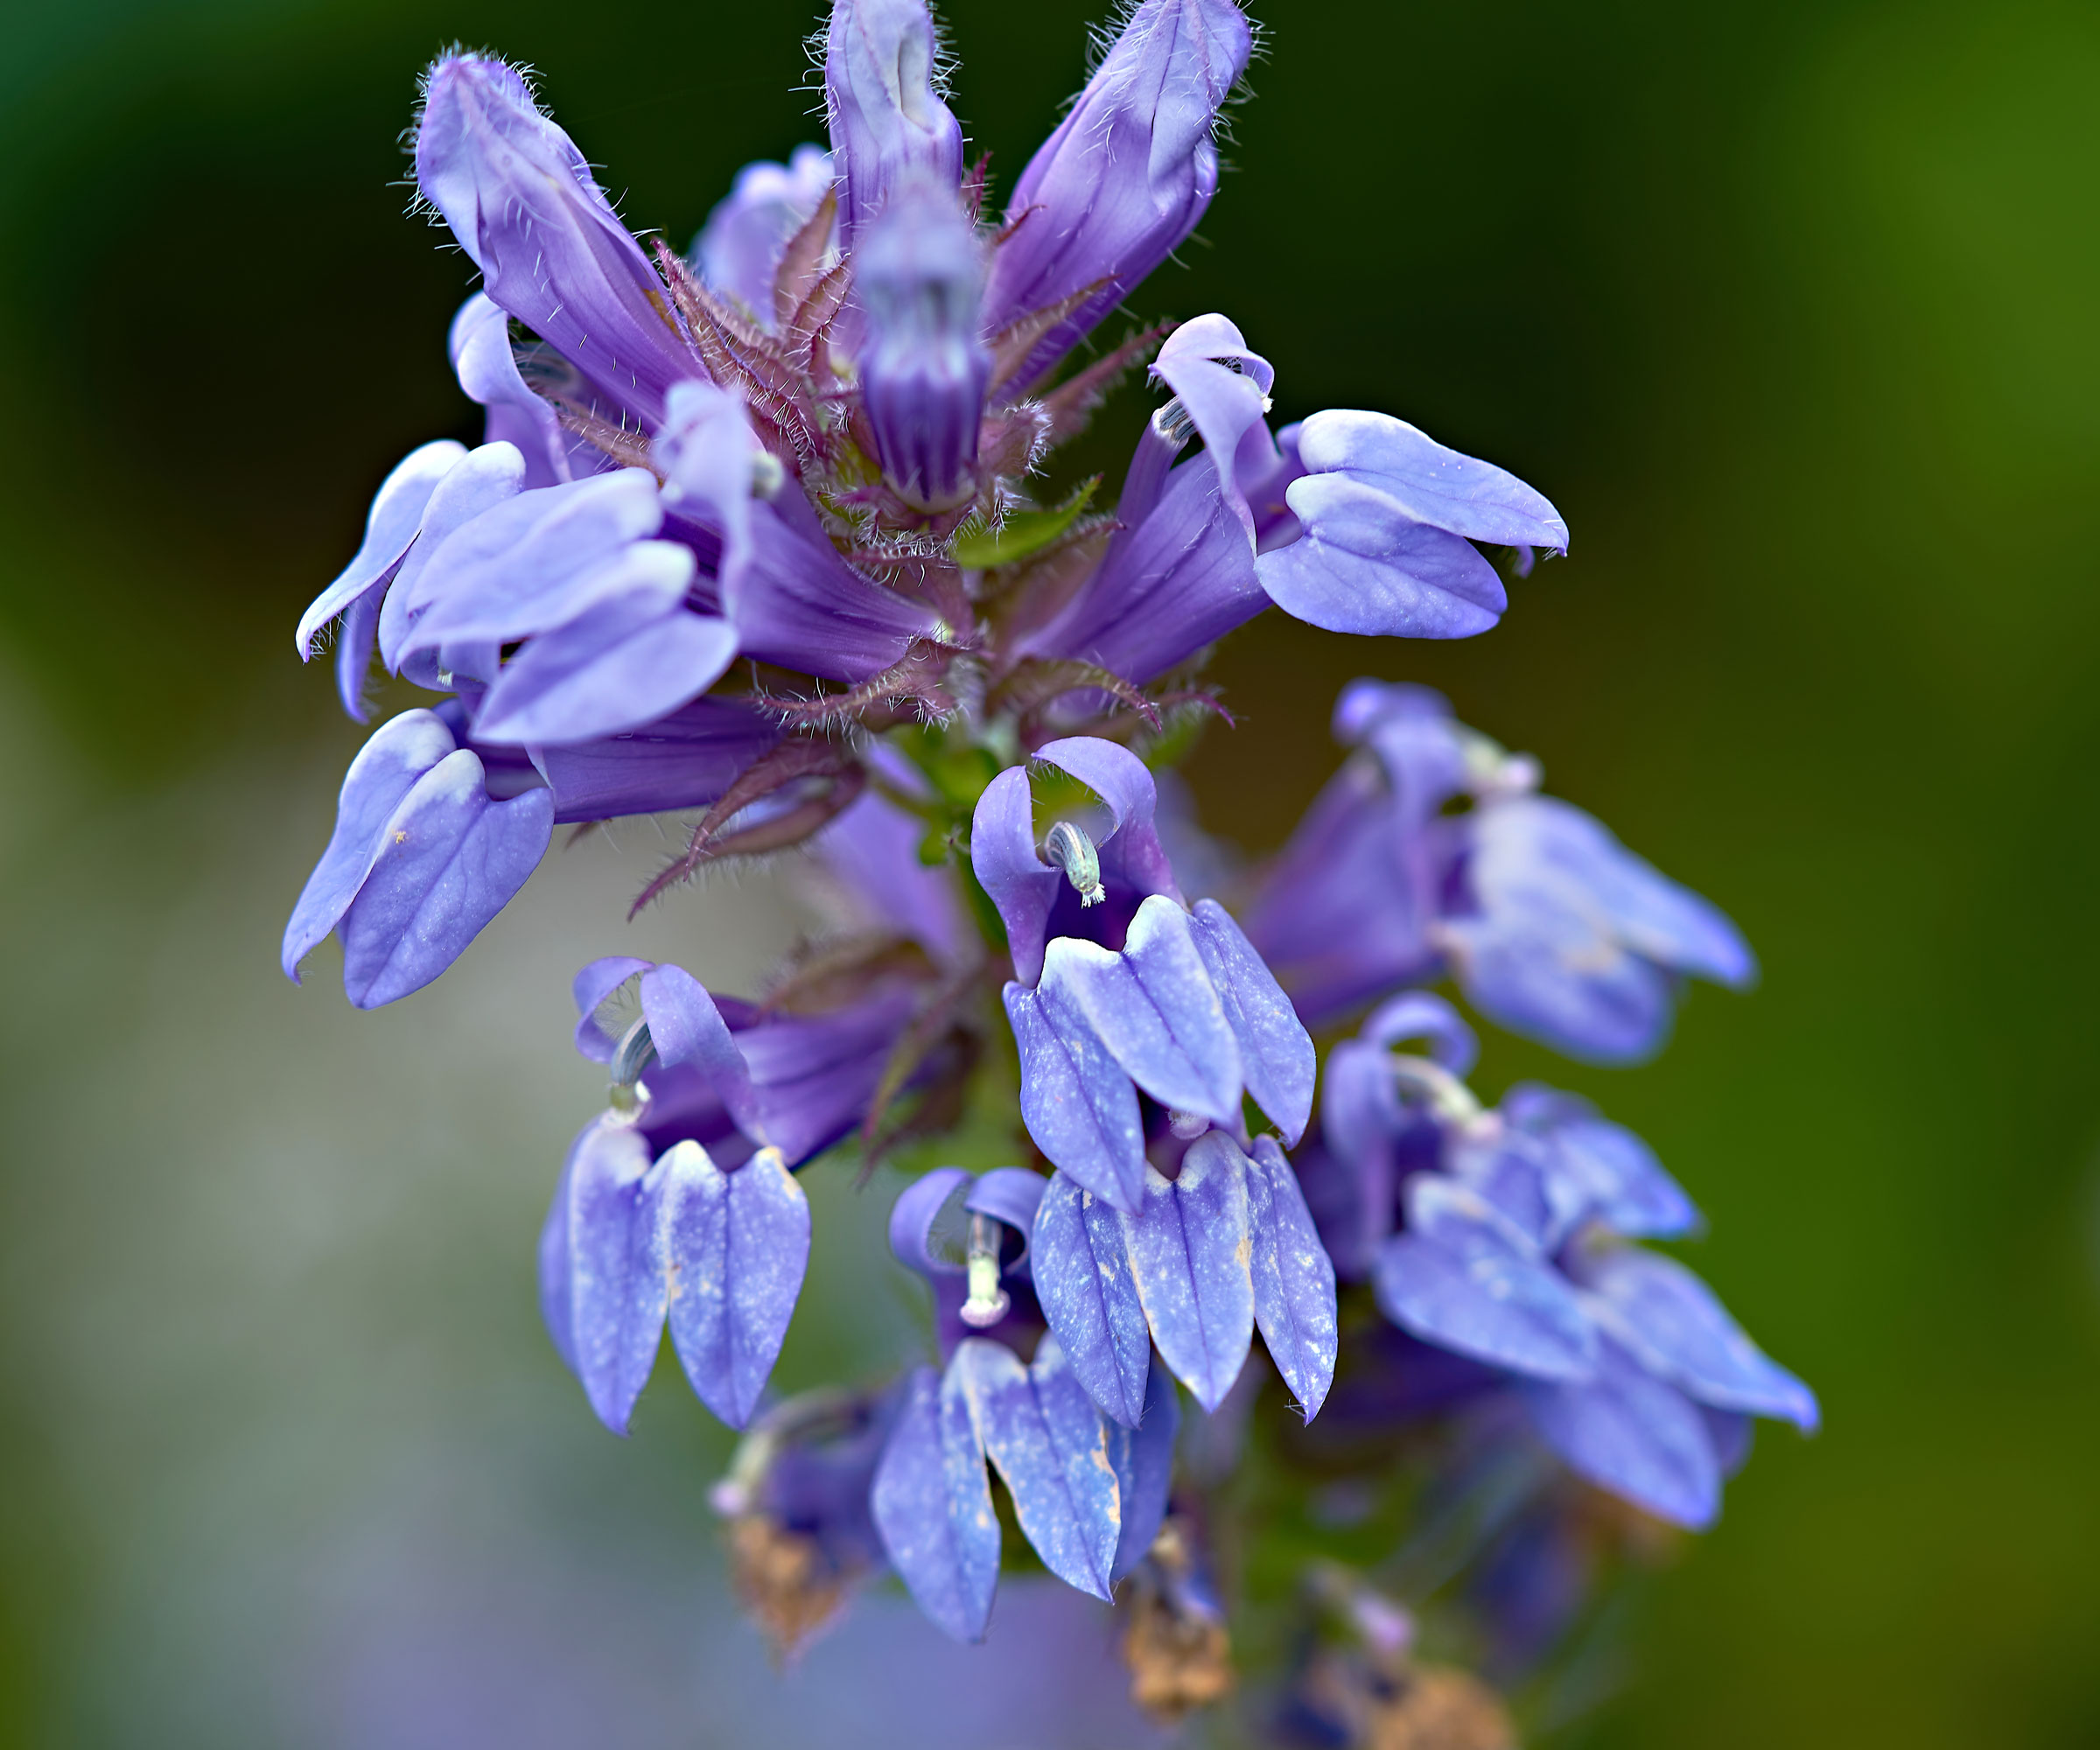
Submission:
<svg viewBox="0 0 2100 1750">
<path fill-rule="evenodd" d="M 1392 1050 L 1409 1038 L 1430 1055 Z M 1632 1244 L 1699 1223 L 1638 1137 L 1537 1086 L 1485 1111 L 1453 1067 L 1470 1059 L 1464 1021 L 1424 994 L 1336 1048 L 1306 1164 L 1336 1258 L 1403 1332 L 1512 1382 L 1581 1477 L 1709 1525 L 1743 1418 L 1812 1433 L 1814 1395 L 1684 1265 Z"/>
</svg>

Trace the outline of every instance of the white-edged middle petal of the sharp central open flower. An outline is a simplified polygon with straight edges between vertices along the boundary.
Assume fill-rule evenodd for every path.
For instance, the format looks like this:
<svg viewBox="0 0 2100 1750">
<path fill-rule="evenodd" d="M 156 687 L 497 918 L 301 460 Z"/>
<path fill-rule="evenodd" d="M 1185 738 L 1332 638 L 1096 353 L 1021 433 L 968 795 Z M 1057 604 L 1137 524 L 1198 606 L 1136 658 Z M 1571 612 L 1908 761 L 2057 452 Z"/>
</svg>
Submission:
<svg viewBox="0 0 2100 1750">
<path fill-rule="evenodd" d="M 1124 1074 L 1161 1105 L 1214 1124 L 1239 1118 L 1239 1044 L 1189 929 L 1189 914 L 1153 895 L 1121 954 L 1058 937 L 1044 950 L 1042 992 L 1069 1002 Z"/>
</svg>

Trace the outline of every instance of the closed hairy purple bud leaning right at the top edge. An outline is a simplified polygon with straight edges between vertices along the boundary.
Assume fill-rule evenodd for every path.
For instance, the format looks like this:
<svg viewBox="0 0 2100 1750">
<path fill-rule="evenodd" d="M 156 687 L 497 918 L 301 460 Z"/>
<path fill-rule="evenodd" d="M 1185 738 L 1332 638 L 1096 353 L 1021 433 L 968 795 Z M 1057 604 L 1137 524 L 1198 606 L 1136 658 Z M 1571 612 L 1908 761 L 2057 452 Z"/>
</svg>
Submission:
<svg viewBox="0 0 2100 1750">
<path fill-rule="evenodd" d="M 1142 0 L 1130 13 L 1014 185 L 987 326 L 1056 319 L 1012 382 L 1044 376 L 1195 231 L 1218 191 L 1218 111 L 1252 53 L 1235 0 Z"/>
</svg>

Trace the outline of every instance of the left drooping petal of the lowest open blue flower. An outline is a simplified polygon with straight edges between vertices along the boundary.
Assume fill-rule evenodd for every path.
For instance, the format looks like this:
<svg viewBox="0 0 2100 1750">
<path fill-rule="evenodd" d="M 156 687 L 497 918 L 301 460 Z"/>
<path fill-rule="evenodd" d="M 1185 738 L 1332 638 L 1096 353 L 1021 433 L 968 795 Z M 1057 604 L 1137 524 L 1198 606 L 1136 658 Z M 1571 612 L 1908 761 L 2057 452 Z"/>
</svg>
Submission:
<svg viewBox="0 0 2100 1750">
<path fill-rule="evenodd" d="M 968 1414 L 947 1441 L 941 1382 L 918 1368 L 876 1466 L 869 1506 L 911 1601 L 956 1641 L 983 1641 L 1000 1584 L 1000 1521 Z"/>
</svg>

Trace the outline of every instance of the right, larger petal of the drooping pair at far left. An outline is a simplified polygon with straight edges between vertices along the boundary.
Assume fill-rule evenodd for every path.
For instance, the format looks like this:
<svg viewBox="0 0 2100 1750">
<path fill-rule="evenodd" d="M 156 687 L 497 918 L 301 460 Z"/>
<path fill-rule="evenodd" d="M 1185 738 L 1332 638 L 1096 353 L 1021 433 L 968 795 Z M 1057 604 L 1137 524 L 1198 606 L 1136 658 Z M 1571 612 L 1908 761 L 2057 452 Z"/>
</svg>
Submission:
<svg viewBox="0 0 2100 1750">
<path fill-rule="evenodd" d="M 342 987 L 359 1008 L 422 989 L 460 958 L 540 866 L 554 796 L 491 803 L 481 761 L 445 754 L 386 819 L 342 914 Z"/>
</svg>

